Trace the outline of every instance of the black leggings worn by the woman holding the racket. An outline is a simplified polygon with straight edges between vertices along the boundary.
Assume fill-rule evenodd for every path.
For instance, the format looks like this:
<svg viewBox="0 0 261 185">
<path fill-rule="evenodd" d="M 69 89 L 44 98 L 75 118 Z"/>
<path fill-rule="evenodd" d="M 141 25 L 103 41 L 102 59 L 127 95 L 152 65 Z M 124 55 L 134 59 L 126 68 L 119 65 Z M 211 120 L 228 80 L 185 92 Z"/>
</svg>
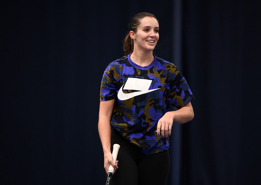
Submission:
<svg viewBox="0 0 261 185">
<path fill-rule="evenodd" d="M 114 129 L 111 130 L 111 151 L 119 144 L 118 169 L 111 178 L 111 185 L 165 185 L 168 180 L 169 150 L 144 155 L 139 148 L 125 140 Z"/>
</svg>

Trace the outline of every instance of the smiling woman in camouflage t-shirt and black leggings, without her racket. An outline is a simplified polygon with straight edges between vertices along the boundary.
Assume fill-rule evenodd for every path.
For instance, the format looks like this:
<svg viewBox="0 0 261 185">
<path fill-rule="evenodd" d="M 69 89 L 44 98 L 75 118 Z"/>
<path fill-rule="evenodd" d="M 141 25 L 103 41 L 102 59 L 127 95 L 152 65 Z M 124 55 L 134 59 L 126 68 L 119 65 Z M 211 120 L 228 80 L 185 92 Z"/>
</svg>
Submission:
<svg viewBox="0 0 261 185">
<path fill-rule="evenodd" d="M 104 168 L 115 170 L 111 184 L 166 184 L 173 121 L 193 119 L 189 86 L 175 65 L 153 54 L 159 39 L 157 18 L 138 13 L 129 23 L 126 56 L 110 63 L 100 90 L 99 135 Z M 168 111 L 169 104 L 178 110 Z M 113 162 L 113 144 L 119 144 Z"/>
</svg>

